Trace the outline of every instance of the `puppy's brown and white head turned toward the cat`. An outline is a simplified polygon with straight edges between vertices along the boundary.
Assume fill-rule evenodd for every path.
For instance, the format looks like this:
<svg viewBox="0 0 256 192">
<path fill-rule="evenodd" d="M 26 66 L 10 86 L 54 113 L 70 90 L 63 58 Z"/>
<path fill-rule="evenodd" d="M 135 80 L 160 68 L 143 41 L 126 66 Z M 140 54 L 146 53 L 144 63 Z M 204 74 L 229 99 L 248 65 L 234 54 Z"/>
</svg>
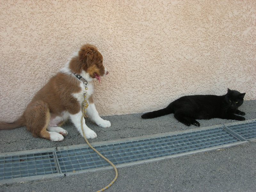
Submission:
<svg viewBox="0 0 256 192">
<path fill-rule="evenodd" d="M 84 44 L 79 49 L 78 54 L 70 60 L 69 68 L 87 81 L 94 79 L 100 82 L 100 76 L 108 75 L 101 53 L 92 44 Z"/>
</svg>

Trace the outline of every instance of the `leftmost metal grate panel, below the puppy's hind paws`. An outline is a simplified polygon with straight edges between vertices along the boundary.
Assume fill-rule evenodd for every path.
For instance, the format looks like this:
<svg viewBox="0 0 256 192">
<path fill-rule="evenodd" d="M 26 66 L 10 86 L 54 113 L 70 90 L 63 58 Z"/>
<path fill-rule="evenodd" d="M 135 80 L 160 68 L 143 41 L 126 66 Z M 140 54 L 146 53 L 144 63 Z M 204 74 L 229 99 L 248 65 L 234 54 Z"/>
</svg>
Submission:
<svg viewBox="0 0 256 192">
<path fill-rule="evenodd" d="M 58 173 L 54 153 L 0 157 L 0 180 Z"/>
</svg>

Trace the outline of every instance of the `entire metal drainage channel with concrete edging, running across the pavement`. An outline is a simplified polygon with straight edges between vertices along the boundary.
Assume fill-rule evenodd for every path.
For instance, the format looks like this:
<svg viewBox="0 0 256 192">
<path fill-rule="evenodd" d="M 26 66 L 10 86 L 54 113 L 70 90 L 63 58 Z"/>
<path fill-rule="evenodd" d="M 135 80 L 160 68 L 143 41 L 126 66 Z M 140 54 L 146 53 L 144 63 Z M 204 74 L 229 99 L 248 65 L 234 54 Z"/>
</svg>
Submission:
<svg viewBox="0 0 256 192">
<path fill-rule="evenodd" d="M 185 152 L 189 154 L 196 150 L 216 149 L 222 145 L 237 145 L 251 138 L 256 138 L 256 119 L 176 133 L 104 141 L 93 146 L 111 162 L 121 166 L 125 163 L 137 164 L 140 160 L 149 162 L 154 158 L 164 159 Z M 0 153 L 0 184 L 64 177 L 74 171 L 103 167 L 110 165 L 87 144 L 58 147 L 57 151 L 56 148 L 47 148 Z"/>
</svg>

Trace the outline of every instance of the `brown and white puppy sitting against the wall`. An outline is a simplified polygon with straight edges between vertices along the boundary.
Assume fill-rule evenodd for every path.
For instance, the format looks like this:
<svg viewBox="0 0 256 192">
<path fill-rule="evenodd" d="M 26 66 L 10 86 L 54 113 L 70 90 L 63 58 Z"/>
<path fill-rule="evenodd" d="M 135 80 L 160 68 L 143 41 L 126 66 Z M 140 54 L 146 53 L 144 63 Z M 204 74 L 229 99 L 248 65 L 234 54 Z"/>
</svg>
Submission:
<svg viewBox="0 0 256 192">
<path fill-rule="evenodd" d="M 84 101 L 84 83 L 75 74 L 87 81 L 87 116 L 101 127 L 110 127 L 110 122 L 99 116 L 92 99 L 92 80 L 100 81 L 100 76 L 108 74 L 102 62 L 103 57 L 98 49 L 92 44 L 84 44 L 73 54 L 66 66 L 36 93 L 23 115 L 12 123 L 0 122 L 0 130 L 26 126 L 33 137 L 62 141 L 68 132 L 60 125 L 70 118 L 83 136 L 81 104 Z M 84 118 L 83 129 L 87 139 L 97 137 L 97 134 L 87 127 Z"/>
</svg>

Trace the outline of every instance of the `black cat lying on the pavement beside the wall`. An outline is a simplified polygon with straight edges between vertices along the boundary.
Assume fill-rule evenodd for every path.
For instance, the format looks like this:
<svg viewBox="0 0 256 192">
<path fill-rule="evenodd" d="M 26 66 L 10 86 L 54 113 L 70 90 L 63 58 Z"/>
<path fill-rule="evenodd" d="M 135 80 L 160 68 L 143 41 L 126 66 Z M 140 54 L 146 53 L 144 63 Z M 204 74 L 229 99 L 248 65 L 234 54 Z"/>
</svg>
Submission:
<svg viewBox="0 0 256 192">
<path fill-rule="evenodd" d="M 244 102 L 245 93 L 228 89 L 226 95 L 191 95 L 183 96 L 166 108 L 143 114 L 144 119 L 164 116 L 174 113 L 174 117 L 181 123 L 189 126 L 190 124 L 200 126 L 196 119 L 234 119 L 244 121 L 245 118 L 238 115 L 245 115 L 237 108 Z M 237 115 L 235 115 L 237 114 Z"/>
</svg>

